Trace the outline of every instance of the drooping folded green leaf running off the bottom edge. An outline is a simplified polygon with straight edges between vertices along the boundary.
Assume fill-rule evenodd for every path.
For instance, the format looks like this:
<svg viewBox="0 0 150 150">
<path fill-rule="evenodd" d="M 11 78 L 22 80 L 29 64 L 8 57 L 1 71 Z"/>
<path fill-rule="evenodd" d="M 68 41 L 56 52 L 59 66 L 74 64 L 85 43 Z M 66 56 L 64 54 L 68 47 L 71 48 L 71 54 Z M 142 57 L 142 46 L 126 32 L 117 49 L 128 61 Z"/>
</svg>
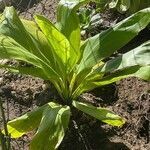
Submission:
<svg viewBox="0 0 150 150">
<path fill-rule="evenodd" d="M 43 112 L 40 126 L 33 138 L 31 150 L 55 150 L 60 145 L 65 130 L 68 127 L 70 108 L 49 103 L 49 107 Z"/>
</svg>

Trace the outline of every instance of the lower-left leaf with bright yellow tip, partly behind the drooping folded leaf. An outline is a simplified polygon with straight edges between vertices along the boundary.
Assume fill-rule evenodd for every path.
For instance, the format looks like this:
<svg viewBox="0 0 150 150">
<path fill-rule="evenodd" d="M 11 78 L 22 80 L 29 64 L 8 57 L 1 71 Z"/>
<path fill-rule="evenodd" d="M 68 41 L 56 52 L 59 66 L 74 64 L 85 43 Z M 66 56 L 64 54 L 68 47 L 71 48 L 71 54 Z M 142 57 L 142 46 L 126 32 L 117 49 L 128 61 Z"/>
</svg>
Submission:
<svg viewBox="0 0 150 150">
<path fill-rule="evenodd" d="M 18 138 L 25 133 L 37 128 L 40 124 L 44 109 L 48 105 L 37 108 L 32 112 L 28 112 L 25 115 L 18 117 L 7 124 L 8 132 L 12 138 Z"/>
</svg>

